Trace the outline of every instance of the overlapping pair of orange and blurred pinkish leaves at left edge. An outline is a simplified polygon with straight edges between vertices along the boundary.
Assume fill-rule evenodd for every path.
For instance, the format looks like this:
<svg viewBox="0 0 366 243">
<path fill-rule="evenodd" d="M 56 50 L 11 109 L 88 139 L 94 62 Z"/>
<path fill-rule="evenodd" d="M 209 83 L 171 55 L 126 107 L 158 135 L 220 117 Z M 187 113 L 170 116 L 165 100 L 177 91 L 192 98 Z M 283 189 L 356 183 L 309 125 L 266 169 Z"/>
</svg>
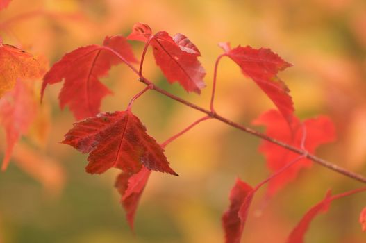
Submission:
<svg viewBox="0 0 366 243">
<path fill-rule="evenodd" d="M 6 130 L 7 143 L 2 170 L 8 166 L 15 143 L 35 117 L 38 106 L 31 81 L 41 78 L 42 70 L 33 55 L 3 44 L 0 38 L 0 122 Z"/>
</svg>

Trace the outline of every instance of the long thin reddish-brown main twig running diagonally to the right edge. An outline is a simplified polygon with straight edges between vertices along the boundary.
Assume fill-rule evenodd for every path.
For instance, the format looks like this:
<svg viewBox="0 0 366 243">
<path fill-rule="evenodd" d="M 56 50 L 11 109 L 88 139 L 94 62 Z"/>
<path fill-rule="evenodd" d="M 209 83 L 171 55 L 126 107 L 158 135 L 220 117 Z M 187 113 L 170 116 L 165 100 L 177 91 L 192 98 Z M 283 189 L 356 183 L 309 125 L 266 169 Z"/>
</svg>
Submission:
<svg viewBox="0 0 366 243">
<path fill-rule="evenodd" d="M 132 71 L 135 72 L 135 74 L 139 75 L 138 70 L 135 69 L 135 67 L 133 67 L 130 62 L 127 62 L 121 55 L 119 55 L 119 53 L 117 53 L 113 49 L 110 49 L 109 47 L 101 47 L 101 49 L 106 49 L 106 50 L 111 51 L 112 53 L 114 53 L 118 58 L 120 58 L 122 60 L 122 62 L 124 62 L 126 65 L 128 65 L 128 67 L 130 67 L 132 69 Z M 194 110 L 199 110 L 200 112 L 205 113 L 209 117 L 212 117 L 214 119 L 222 121 L 225 124 L 228 124 L 229 126 L 232 126 L 234 128 L 238 128 L 240 131 L 243 131 L 244 133 L 249 133 L 249 134 L 251 134 L 253 136 L 256 136 L 256 137 L 259 137 L 263 140 L 267 140 L 268 142 L 272 142 L 273 144 L 281 146 L 284 149 L 288 149 L 289 151 L 297 153 L 300 156 L 305 156 L 309 160 L 313 160 L 313 162 L 316 162 L 317 164 L 322 165 L 323 167 L 326 167 L 328 169 L 336 171 L 336 172 L 338 172 L 340 174 L 343 174 L 344 176 L 347 176 L 349 178 L 353 178 L 356 181 L 366 183 L 365 176 L 362 176 L 360 174 L 354 173 L 353 171 L 349 171 L 347 169 L 344 169 L 343 167 L 335 165 L 332 162 L 328 162 L 327 160 L 323 160 L 322 158 L 319 158 L 319 157 L 317 157 L 317 156 L 315 156 L 311 153 L 308 153 L 308 151 L 306 151 L 304 149 L 299 149 L 297 147 L 291 146 L 290 144 L 286 144 L 285 142 L 281 142 L 279 140 L 276 140 L 273 137 L 269 137 L 269 136 L 265 135 L 264 133 L 260 133 L 256 130 L 253 130 L 252 128 L 237 124 L 234 121 L 231 121 L 231 120 L 229 120 L 225 117 L 222 117 L 221 115 L 217 114 L 217 112 L 212 112 L 210 110 L 206 110 L 205 108 L 202 108 L 201 106 L 197 106 L 194 103 L 190 103 L 189 101 L 186 101 L 185 99 L 177 97 L 174 94 L 171 94 L 171 93 L 161 89 L 160 87 L 157 87 L 151 81 L 149 81 L 149 79 L 144 78 L 144 76 L 139 76 L 139 81 L 146 84 L 146 85 L 149 85 L 151 87 L 151 90 L 155 90 L 156 92 L 159 92 L 160 94 L 163 94 L 166 97 L 169 97 L 170 99 L 174 99 L 175 101 L 183 103 L 185 106 L 189 106 L 190 108 L 193 108 Z"/>
</svg>

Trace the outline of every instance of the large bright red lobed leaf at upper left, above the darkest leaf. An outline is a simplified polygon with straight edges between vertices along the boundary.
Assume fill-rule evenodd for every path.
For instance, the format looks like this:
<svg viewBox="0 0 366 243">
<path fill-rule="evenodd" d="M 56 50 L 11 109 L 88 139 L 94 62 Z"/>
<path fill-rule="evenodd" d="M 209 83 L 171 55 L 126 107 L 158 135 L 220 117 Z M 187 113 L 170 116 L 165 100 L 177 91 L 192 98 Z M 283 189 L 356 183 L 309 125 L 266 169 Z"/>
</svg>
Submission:
<svg viewBox="0 0 366 243">
<path fill-rule="evenodd" d="M 132 49 L 122 36 L 106 37 L 103 46 L 117 51 L 128 62 L 137 62 Z M 110 90 L 99 78 L 106 76 L 112 65 L 122 62 L 115 54 L 97 44 L 80 47 L 65 54 L 44 76 L 42 97 L 47 85 L 65 79 L 59 94 L 60 107 L 69 106 L 76 119 L 92 117 L 99 112 L 101 99 Z"/>
</svg>

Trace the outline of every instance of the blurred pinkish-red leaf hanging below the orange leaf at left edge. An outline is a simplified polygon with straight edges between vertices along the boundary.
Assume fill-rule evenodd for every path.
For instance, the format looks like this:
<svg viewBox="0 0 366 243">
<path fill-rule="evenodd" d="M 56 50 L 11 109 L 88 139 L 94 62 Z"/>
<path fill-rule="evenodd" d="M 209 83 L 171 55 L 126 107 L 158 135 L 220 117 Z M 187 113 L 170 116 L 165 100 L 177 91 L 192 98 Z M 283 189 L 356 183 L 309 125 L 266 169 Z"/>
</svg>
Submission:
<svg viewBox="0 0 366 243">
<path fill-rule="evenodd" d="M 2 170 L 8 166 L 15 143 L 28 131 L 37 110 L 31 83 L 21 80 L 0 99 L 0 122 L 5 129 L 7 146 Z"/>
</svg>

